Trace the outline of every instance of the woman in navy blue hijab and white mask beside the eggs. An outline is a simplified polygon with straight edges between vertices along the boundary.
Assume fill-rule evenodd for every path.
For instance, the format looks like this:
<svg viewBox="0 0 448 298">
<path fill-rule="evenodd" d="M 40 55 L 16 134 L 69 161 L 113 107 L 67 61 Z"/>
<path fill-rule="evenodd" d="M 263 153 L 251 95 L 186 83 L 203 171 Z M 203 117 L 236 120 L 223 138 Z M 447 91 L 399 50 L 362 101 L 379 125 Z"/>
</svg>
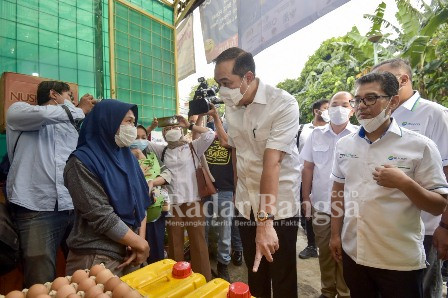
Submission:
<svg viewBox="0 0 448 298">
<path fill-rule="evenodd" d="M 137 106 L 103 100 L 85 118 L 78 147 L 64 170 L 75 206 L 67 240 L 67 274 L 104 263 L 122 276 L 149 255 L 144 239 L 149 188 L 129 146 L 135 140 Z"/>
</svg>

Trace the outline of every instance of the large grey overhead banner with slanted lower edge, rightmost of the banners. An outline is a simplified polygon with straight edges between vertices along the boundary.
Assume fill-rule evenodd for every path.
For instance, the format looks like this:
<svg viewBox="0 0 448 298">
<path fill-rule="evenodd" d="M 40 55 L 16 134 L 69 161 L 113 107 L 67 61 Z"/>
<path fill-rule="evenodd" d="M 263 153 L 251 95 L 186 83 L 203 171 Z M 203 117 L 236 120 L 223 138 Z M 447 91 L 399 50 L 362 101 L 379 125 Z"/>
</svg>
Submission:
<svg viewBox="0 0 448 298">
<path fill-rule="evenodd" d="M 350 0 L 238 1 L 238 45 L 256 55 L 348 1 Z"/>
</svg>

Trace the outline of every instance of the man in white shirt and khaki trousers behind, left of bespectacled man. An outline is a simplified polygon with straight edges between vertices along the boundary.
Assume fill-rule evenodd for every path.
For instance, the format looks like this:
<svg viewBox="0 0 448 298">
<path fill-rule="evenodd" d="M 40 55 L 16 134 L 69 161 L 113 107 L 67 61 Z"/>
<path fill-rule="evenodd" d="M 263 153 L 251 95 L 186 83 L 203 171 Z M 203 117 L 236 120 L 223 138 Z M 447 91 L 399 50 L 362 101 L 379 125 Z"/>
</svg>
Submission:
<svg viewBox="0 0 448 298">
<path fill-rule="evenodd" d="M 350 291 L 342 276 L 342 264 L 331 256 L 330 214 L 331 214 L 331 161 L 336 142 L 356 131 L 349 122 L 353 115 L 350 106 L 352 95 L 338 92 L 330 100 L 330 123 L 313 130 L 308 138 L 300 159 L 304 160 L 302 171 L 302 197 L 307 219 L 312 218 L 316 243 L 319 247 L 321 276 L 321 297 L 350 297 Z M 310 194 L 311 193 L 311 194 Z M 311 210 L 311 207 L 313 210 Z"/>
</svg>

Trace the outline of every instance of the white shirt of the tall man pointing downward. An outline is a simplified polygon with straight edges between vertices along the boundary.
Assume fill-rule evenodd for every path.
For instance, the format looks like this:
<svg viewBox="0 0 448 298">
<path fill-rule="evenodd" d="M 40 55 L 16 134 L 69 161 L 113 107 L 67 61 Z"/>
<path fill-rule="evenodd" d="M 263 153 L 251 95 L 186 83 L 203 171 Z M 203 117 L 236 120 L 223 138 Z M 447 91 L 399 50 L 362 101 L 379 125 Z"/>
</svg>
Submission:
<svg viewBox="0 0 448 298">
<path fill-rule="evenodd" d="M 268 148 L 286 153 L 280 173 L 275 219 L 299 210 L 299 130 L 297 100 L 286 91 L 259 80 L 254 101 L 247 107 L 226 107 L 229 145 L 236 148 L 238 185 L 235 205 L 247 219 L 260 206 L 263 154 Z"/>
</svg>

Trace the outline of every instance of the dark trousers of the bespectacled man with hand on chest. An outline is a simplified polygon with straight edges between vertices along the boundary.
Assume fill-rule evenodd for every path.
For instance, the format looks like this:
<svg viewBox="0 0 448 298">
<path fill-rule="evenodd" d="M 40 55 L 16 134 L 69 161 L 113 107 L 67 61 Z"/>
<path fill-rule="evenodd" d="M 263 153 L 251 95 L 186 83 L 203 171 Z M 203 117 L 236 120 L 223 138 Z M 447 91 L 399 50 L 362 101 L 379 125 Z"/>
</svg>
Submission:
<svg viewBox="0 0 448 298">
<path fill-rule="evenodd" d="M 423 269 L 396 271 L 358 265 L 344 251 L 342 266 L 352 298 L 423 297 Z"/>
</svg>

